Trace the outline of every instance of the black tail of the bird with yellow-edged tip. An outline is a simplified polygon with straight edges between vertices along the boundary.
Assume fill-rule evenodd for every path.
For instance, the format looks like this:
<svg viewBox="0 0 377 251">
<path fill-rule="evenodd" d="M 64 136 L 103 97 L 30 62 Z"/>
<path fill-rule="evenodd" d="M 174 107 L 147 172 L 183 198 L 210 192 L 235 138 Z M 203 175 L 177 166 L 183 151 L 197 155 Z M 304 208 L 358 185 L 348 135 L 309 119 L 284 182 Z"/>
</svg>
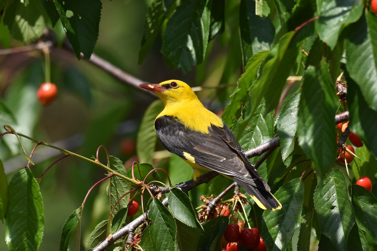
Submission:
<svg viewBox="0 0 377 251">
<path fill-rule="evenodd" d="M 273 196 L 271 192 L 263 190 L 258 187 L 254 187 L 250 184 L 247 184 L 243 181 L 238 180 L 237 178 L 233 179 L 245 189 L 245 191 L 251 196 L 255 203 L 262 209 L 276 210 L 282 207 L 282 204 Z"/>
</svg>

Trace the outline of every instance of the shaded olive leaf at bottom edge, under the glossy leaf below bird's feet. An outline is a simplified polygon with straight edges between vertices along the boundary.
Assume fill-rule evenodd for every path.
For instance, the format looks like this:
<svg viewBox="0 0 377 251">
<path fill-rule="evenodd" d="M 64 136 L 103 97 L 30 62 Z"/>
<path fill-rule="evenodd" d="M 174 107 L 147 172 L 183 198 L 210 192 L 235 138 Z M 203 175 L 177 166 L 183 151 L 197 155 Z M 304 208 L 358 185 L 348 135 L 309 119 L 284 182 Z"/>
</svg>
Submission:
<svg viewBox="0 0 377 251">
<path fill-rule="evenodd" d="M 175 238 L 175 250 L 179 251 L 192 251 L 198 250 L 198 242 L 201 228 L 189 227 L 188 225 L 176 220 L 177 236 Z"/>
</svg>

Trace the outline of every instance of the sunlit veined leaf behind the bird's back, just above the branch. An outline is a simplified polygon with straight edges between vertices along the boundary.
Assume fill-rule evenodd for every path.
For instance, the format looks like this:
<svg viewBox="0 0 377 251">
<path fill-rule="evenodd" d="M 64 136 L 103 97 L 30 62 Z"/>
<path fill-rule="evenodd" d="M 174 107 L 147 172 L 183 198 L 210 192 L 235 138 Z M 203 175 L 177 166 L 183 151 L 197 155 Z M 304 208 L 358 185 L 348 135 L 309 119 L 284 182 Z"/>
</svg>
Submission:
<svg viewBox="0 0 377 251">
<path fill-rule="evenodd" d="M 250 103 L 247 104 L 245 109 L 250 106 Z M 274 136 L 274 122 L 272 118 L 272 113 L 264 116 L 265 113 L 265 104 L 262 100 L 262 103 L 256 109 L 254 116 L 248 121 L 248 124 L 245 130 L 240 134 L 239 130 L 245 120 L 243 117 L 239 120 L 235 120 L 232 130 L 234 134 L 241 135 L 239 143 L 242 146 L 242 149 L 246 151 L 247 149 L 254 148 L 261 145 L 262 143 L 271 140 Z M 251 159 L 252 161 L 253 159 Z"/>
</svg>

